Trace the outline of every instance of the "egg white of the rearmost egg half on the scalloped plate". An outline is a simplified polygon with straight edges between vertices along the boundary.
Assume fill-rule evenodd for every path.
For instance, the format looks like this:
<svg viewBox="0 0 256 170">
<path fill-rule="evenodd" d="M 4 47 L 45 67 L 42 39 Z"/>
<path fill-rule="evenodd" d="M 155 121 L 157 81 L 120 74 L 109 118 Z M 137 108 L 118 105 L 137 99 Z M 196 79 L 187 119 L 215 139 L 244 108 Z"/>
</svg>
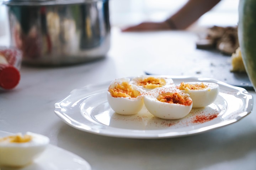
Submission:
<svg viewBox="0 0 256 170">
<path fill-rule="evenodd" d="M 165 82 L 166 82 L 166 84 L 165 84 L 164 86 L 162 86 L 162 87 L 174 86 L 174 81 L 173 81 L 171 78 L 162 77 L 162 76 L 160 76 L 160 75 L 141 75 L 141 76 L 138 76 L 138 77 L 134 77 L 134 78 L 130 81 L 130 84 L 134 84 L 134 85 L 138 86 L 138 90 L 139 90 L 139 91 L 142 91 L 142 92 L 147 92 L 147 91 L 153 90 L 154 88 L 148 89 L 148 88 L 146 88 L 146 87 L 143 87 L 143 86 L 139 85 L 139 83 L 140 83 L 141 81 L 144 81 L 144 79 L 149 78 L 149 77 L 164 79 Z"/>
</svg>

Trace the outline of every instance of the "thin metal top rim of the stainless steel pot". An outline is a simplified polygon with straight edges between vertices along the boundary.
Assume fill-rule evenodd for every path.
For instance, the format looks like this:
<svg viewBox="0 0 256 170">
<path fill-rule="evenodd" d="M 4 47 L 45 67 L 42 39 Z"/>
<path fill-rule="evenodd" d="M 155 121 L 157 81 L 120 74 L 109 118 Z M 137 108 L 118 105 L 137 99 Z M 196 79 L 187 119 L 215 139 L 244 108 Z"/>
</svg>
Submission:
<svg viewBox="0 0 256 170">
<path fill-rule="evenodd" d="M 5 5 L 17 6 L 42 6 L 42 5 L 66 5 L 66 4 L 84 4 L 97 1 L 108 0 L 4 0 Z"/>
</svg>

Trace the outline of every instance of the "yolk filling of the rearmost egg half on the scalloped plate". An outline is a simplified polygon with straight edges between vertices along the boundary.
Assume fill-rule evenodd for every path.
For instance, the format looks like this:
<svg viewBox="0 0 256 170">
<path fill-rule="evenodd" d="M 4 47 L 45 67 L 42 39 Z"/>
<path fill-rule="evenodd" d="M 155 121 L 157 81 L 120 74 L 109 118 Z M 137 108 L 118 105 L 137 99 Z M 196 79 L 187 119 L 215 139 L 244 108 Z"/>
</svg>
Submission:
<svg viewBox="0 0 256 170">
<path fill-rule="evenodd" d="M 146 89 L 155 89 L 156 87 L 162 87 L 166 85 L 166 81 L 164 79 L 148 77 L 145 78 L 143 81 L 140 81 L 138 85 L 143 86 Z"/>
</svg>

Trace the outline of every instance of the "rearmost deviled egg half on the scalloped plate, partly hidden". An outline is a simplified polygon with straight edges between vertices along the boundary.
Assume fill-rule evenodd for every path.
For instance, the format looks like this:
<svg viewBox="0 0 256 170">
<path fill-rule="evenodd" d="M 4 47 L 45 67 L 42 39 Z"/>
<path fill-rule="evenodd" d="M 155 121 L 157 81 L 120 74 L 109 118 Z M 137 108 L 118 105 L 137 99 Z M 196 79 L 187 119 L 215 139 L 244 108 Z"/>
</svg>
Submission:
<svg viewBox="0 0 256 170">
<path fill-rule="evenodd" d="M 138 86 L 138 89 L 143 92 L 153 90 L 157 87 L 174 86 L 174 81 L 171 78 L 157 75 L 141 75 L 133 78 L 130 83 Z"/>
</svg>

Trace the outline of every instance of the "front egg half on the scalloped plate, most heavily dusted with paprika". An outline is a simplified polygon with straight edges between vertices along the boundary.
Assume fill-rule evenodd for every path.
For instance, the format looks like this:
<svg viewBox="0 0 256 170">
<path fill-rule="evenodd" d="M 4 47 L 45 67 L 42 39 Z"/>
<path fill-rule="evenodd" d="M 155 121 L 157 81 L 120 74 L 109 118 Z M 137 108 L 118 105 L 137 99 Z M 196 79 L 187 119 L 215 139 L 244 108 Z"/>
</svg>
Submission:
<svg viewBox="0 0 256 170">
<path fill-rule="evenodd" d="M 146 109 L 162 119 L 181 119 L 190 113 L 192 99 L 175 88 L 158 87 L 144 94 Z"/>
</svg>

